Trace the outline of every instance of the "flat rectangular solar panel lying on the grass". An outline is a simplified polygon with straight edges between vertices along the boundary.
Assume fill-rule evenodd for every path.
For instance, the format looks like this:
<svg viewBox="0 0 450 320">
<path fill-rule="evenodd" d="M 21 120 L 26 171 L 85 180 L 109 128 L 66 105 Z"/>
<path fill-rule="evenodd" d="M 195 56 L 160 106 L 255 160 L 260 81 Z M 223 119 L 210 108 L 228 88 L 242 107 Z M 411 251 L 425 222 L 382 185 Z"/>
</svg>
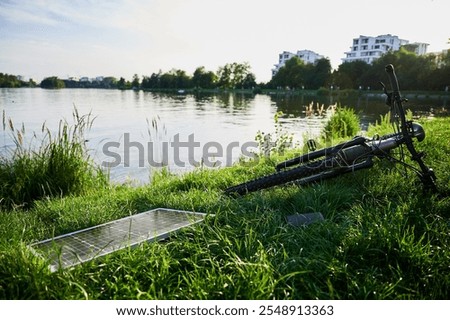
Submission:
<svg viewBox="0 0 450 320">
<path fill-rule="evenodd" d="M 144 241 L 167 238 L 172 232 L 203 221 L 205 213 L 158 208 L 30 245 L 47 259 L 50 269 L 69 268 Z"/>
</svg>

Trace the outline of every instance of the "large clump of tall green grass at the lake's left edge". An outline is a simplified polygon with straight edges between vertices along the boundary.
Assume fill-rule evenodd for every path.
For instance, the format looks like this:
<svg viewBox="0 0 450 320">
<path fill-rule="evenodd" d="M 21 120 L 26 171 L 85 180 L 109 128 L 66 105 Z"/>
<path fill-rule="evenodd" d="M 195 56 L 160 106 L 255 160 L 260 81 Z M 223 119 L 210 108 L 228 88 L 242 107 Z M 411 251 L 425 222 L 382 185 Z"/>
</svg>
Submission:
<svg viewBox="0 0 450 320">
<path fill-rule="evenodd" d="M 92 124 L 90 115 L 75 112 L 74 119 L 73 126 L 61 121 L 55 136 L 43 126 L 44 138 L 38 150 L 25 146 L 25 128 L 15 130 L 9 119 L 15 149 L 9 157 L 0 157 L 1 207 L 30 207 L 37 199 L 82 194 L 90 187 L 106 185 L 106 175 L 94 165 L 85 147 L 84 131 Z"/>
</svg>

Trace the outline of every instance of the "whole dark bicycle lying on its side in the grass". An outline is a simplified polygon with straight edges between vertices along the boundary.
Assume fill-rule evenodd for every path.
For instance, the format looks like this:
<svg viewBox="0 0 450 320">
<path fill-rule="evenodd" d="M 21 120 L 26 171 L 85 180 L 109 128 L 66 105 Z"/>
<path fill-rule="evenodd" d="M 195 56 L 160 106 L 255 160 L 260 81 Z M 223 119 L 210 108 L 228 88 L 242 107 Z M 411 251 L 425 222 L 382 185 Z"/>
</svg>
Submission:
<svg viewBox="0 0 450 320">
<path fill-rule="evenodd" d="M 418 152 L 414 146 L 413 138 L 417 141 L 425 139 L 425 131 L 418 123 L 406 120 L 403 99 L 400 95 L 397 76 L 392 65 L 386 66 L 392 92 L 386 94 L 386 104 L 391 108 L 394 132 L 384 136 L 375 136 L 371 139 L 357 136 L 350 141 L 336 146 L 314 150 L 299 157 L 287 160 L 276 166 L 276 173 L 257 178 L 242 184 L 229 187 L 225 190 L 228 195 L 245 195 L 247 193 L 274 187 L 277 185 L 294 182 L 297 185 L 313 183 L 344 173 L 370 168 L 373 166 L 373 158 L 389 158 L 417 173 L 424 187 L 436 191 L 435 174 L 433 170 L 423 162 L 424 153 Z M 404 161 L 404 148 L 408 150 L 411 159 L 417 164 L 412 166 Z M 397 159 L 391 155 L 391 151 L 399 148 L 400 157 Z"/>
</svg>

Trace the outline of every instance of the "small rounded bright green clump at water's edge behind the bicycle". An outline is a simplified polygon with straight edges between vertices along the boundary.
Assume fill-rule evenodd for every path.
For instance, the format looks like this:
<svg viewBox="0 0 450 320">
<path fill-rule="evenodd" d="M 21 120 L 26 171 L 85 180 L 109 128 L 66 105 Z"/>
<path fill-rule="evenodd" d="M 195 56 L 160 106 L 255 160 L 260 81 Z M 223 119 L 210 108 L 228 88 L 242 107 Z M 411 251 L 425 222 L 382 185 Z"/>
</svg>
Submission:
<svg viewBox="0 0 450 320">
<path fill-rule="evenodd" d="M 323 135 L 326 141 L 353 137 L 360 131 L 359 117 L 353 109 L 337 108 L 325 124 Z"/>
</svg>

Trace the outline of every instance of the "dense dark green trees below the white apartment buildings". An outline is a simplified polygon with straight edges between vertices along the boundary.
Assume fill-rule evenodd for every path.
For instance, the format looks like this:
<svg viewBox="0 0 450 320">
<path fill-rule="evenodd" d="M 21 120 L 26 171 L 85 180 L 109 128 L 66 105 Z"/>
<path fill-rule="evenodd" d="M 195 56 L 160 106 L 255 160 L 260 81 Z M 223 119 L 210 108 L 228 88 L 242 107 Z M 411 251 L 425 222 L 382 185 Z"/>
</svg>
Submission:
<svg viewBox="0 0 450 320">
<path fill-rule="evenodd" d="M 328 59 L 305 64 L 293 57 L 280 68 L 266 85 L 268 88 L 291 89 L 372 89 L 386 80 L 385 66 L 393 64 L 404 90 L 448 90 L 450 85 L 450 51 L 442 57 L 418 56 L 406 49 L 390 51 L 372 64 L 364 61 L 345 62 L 331 71 Z"/>
</svg>

